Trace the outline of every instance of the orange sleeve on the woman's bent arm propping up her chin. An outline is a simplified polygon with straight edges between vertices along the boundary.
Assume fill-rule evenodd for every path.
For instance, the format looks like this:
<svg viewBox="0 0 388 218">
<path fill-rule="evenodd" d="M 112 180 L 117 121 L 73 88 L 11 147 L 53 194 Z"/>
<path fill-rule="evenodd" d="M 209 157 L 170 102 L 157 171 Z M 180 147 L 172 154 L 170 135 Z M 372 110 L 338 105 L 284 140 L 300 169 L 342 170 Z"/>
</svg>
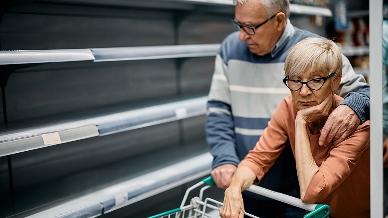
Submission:
<svg viewBox="0 0 388 218">
<path fill-rule="evenodd" d="M 308 184 L 303 203 L 325 199 L 352 172 L 362 153 L 369 149 L 369 120 L 336 145 Z"/>
</svg>

